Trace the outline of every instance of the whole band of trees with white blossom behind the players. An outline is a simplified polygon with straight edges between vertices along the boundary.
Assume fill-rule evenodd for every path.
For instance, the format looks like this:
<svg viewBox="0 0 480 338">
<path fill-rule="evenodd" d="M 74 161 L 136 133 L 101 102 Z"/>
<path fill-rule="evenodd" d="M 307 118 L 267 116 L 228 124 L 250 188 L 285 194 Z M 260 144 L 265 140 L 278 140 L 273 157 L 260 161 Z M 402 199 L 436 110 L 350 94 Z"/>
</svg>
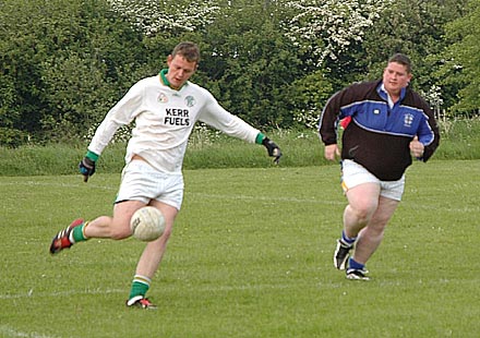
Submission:
<svg viewBox="0 0 480 338">
<path fill-rule="evenodd" d="M 479 0 L 3 0 L 0 145 L 83 140 L 184 39 L 202 49 L 193 81 L 260 128 L 312 128 L 329 95 L 397 51 L 439 117 L 468 118 L 479 19 Z"/>
</svg>

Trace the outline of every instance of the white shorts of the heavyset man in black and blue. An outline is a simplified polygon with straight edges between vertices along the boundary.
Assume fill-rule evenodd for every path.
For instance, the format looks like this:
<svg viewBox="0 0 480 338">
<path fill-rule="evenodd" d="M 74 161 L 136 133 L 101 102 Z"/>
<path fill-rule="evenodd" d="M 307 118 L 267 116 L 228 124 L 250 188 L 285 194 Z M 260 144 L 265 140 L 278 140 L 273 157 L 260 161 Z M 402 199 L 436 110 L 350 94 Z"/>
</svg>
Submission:
<svg viewBox="0 0 480 338">
<path fill-rule="evenodd" d="M 344 159 L 341 161 L 341 188 L 345 192 L 353 186 L 362 183 L 377 183 L 380 184 L 380 195 L 401 201 L 405 190 L 405 173 L 398 181 L 381 181 L 363 166 L 352 161 L 351 159 Z"/>
</svg>

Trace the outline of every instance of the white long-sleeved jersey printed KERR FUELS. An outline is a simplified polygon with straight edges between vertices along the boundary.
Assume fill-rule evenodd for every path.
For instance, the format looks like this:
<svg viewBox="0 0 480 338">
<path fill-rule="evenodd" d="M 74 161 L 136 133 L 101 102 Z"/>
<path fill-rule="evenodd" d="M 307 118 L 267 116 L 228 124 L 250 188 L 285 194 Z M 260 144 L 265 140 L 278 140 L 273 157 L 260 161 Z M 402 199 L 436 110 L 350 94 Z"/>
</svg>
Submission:
<svg viewBox="0 0 480 338">
<path fill-rule="evenodd" d="M 251 143 L 260 132 L 220 107 L 205 88 L 187 82 L 180 90 L 175 90 L 164 85 L 158 75 L 139 81 L 110 109 L 88 150 L 100 155 L 115 132 L 133 120 L 135 128 L 127 147 L 125 162 L 136 154 L 163 172 L 181 171 L 196 121 Z"/>
</svg>

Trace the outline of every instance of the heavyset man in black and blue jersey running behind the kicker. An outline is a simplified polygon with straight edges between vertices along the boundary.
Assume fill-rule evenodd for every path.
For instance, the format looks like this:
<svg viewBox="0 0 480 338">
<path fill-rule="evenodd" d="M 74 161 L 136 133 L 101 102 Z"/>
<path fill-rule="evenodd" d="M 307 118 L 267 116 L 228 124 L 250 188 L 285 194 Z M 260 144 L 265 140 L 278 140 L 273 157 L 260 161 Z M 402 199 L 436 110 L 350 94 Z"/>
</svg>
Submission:
<svg viewBox="0 0 480 338">
<path fill-rule="evenodd" d="M 367 261 L 379 248 L 401 200 L 411 157 L 427 161 L 439 146 L 429 105 L 408 85 L 411 63 L 393 56 L 383 79 L 356 83 L 333 95 L 320 120 L 325 158 L 341 157 L 341 186 L 348 200 L 334 265 L 348 279 L 368 280 Z M 341 153 L 337 126 L 341 121 Z M 350 251 L 355 252 L 350 256 Z"/>
</svg>

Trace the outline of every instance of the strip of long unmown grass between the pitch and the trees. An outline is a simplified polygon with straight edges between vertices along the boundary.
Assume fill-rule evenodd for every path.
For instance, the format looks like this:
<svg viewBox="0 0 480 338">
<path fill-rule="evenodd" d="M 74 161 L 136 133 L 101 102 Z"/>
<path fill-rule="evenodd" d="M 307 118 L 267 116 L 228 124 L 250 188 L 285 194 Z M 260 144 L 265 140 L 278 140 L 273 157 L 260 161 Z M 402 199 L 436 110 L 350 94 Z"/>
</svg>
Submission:
<svg viewBox="0 0 480 338">
<path fill-rule="evenodd" d="M 435 159 L 480 159 L 480 120 L 441 121 L 441 144 Z M 315 130 L 275 130 L 267 133 L 281 148 L 286 167 L 323 166 L 323 145 Z M 0 176 L 75 174 L 87 144 L 24 145 L 0 147 Z M 124 165 L 125 144 L 112 142 L 98 160 L 98 172 L 117 173 Z M 183 167 L 193 169 L 268 168 L 272 159 L 265 148 L 248 144 L 207 129 L 195 130 L 190 137 Z"/>
</svg>

